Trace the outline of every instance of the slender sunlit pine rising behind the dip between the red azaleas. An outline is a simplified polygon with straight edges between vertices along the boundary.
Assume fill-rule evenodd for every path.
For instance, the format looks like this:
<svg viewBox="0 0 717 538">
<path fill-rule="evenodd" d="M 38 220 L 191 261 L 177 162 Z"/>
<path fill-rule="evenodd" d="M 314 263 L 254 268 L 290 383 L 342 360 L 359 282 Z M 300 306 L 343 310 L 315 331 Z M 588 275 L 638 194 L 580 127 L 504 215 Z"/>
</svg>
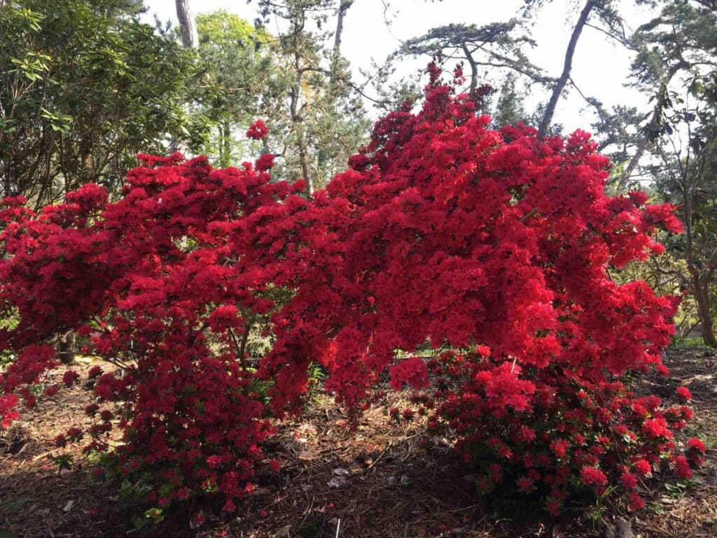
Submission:
<svg viewBox="0 0 717 538">
<path fill-rule="evenodd" d="M 277 173 L 305 179 L 307 194 L 311 194 L 343 169 L 369 130 L 336 39 L 328 47 L 332 35 L 340 37 L 348 7 L 345 1 L 335 0 L 260 0 L 258 6 L 260 24 L 267 24 L 271 17 L 282 22 L 276 54 L 293 80 L 282 109 L 285 113 L 273 121 L 272 132 L 282 135 L 270 138 L 268 144 L 283 158 Z M 325 28 L 333 16 L 341 25 L 332 34 Z"/>
</svg>

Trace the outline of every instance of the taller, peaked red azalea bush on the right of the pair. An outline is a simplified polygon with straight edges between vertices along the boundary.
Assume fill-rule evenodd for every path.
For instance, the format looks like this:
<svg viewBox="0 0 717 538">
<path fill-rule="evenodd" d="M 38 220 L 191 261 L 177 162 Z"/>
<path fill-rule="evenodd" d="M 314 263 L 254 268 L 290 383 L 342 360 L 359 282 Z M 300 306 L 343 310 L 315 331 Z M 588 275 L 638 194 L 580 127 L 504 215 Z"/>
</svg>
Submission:
<svg viewBox="0 0 717 538">
<path fill-rule="evenodd" d="M 351 170 L 318 194 L 341 263 L 312 273 L 294 318 L 350 404 L 387 367 L 394 388 L 426 387 L 428 366 L 419 411 L 433 410 L 433 432 L 457 435 L 482 489 L 537 489 L 556 511 L 576 483 L 618 486 L 637 509 L 635 473 L 689 474 L 673 431 L 690 409 L 661 409 L 625 384 L 667 374 L 678 298 L 618 285 L 607 268 L 661 252 L 657 230 L 680 222 L 642 192 L 607 196 L 609 161 L 587 133 L 492 131 L 452 91 L 434 72 L 422 110 L 379 121 Z M 455 351 L 396 364 L 396 349 L 427 340 Z"/>
</svg>

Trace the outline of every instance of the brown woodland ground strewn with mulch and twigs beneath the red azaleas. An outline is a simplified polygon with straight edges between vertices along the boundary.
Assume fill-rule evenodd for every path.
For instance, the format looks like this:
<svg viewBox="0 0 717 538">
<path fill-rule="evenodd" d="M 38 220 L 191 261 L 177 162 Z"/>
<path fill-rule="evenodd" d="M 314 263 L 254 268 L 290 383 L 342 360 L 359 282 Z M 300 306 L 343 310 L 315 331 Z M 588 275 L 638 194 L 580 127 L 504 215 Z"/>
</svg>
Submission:
<svg viewBox="0 0 717 538">
<path fill-rule="evenodd" d="M 651 377 L 639 390 L 669 402 L 675 387 L 693 393 L 690 435 L 708 443 L 708 463 L 683 488 L 655 484 L 652 502 L 632 532 L 642 538 L 717 536 L 717 354 L 685 347 L 668 350 L 667 382 Z M 80 362 L 73 369 L 88 369 Z M 62 376 L 62 369 L 53 376 Z M 57 379 L 59 381 L 59 379 Z M 551 519 L 535 506 L 510 499 L 479 499 L 446 443 L 429 452 L 418 423 L 391 420 L 391 394 L 364 415 L 358 430 L 326 397 L 301 420 L 280 426 L 267 447 L 282 461 L 280 474 L 258 477 L 257 491 L 237 514 L 217 514 L 191 528 L 185 514 L 136 530 L 136 506 L 117 500 L 116 487 L 90 478 L 87 462 L 57 472 L 50 440 L 87 420 L 90 401 L 80 387 L 43 400 L 11 430 L 0 433 L 0 538 L 242 537 L 437 538 L 609 537 L 617 514 L 576 507 Z M 337 533 L 338 526 L 338 533 Z M 617 532 L 627 538 L 630 534 Z"/>
</svg>

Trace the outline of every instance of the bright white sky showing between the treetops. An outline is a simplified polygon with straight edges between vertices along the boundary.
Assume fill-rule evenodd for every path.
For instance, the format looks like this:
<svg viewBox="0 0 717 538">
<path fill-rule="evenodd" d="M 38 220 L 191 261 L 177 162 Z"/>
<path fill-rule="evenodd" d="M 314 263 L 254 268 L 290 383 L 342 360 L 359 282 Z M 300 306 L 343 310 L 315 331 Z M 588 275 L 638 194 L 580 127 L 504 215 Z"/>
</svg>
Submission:
<svg viewBox="0 0 717 538">
<path fill-rule="evenodd" d="M 194 13 L 226 9 L 252 22 L 255 4 L 246 0 L 190 0 Z M 400 46 L 399 40 L 424 34 L 428 29 L 443 24 L 466 23 L 483 26 L 490 22 L 507 21 L 519 16 L 522 0 L 389 0 L 393 13 L 391 30 L 384 24 L 384 3 L 381 0 L 356 0 L 346 14 L 341 52 L 353 68 L 356 81 L 361 77 L 357 67 L 368 69 L 371 59 L 381 62 Z M 176 24 L 174 0 L 145 0 L 148 18 L 157 14 L 163 21 Z M 576 20 L 581 0 L 554 0 L 539 12 L 532 28 L 538 46 L 527 50 L 530 60 L 546 70 L 550 76 L 560 75 L 565 49 L 572 24 Z M 622 0 L 620 14 L 632 28 L 646 22 L 649 12 L 638 11 L 632 2 Z M 329 22 L 333 27 L 333 22 Z M 269 28 L 270 31 L 272 28 Z M 425 62 L 425 60 L 422 60 Z M 407 68 L 403 75 L 412 73 Z M 586 95 L 594 96 L 609 105 L 635 105 L 647 110 L 647 97 L 631 88 L 625 88 L 630 67 L 630 55 L 622 45 L 602 32 L 586 27 L 576 49 L 573 62 L 573 80 Z M 531 100 L 546 100 L 547 94 L 536 87 Z M 367 103 L 368 105 L 369 103 Z M 572 90 L 563 98 L 556 110 L 555 121 L 564 123 L 566 132 L 576 128 L 589 130 L 594 116 L 585 110 L 586 103 Z"/>
</svg>

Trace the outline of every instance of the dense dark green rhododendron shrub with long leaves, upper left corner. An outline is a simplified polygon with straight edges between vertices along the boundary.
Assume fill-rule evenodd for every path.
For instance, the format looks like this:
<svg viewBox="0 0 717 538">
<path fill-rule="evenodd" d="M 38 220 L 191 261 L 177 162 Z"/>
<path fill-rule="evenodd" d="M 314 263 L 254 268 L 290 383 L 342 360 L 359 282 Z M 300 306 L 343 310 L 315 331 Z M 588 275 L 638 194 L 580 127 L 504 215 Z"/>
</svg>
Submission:
<svg viewBox="0 0 717 538">
<path fill-rule="evenodd" d="M 0 6 L 0 179 L 39 206 L 87 181 L 116 189 L 139 151 L 197 146 L 184 103 L 203 70 L 141 24 L 135 0 Z"/>
</svg>

